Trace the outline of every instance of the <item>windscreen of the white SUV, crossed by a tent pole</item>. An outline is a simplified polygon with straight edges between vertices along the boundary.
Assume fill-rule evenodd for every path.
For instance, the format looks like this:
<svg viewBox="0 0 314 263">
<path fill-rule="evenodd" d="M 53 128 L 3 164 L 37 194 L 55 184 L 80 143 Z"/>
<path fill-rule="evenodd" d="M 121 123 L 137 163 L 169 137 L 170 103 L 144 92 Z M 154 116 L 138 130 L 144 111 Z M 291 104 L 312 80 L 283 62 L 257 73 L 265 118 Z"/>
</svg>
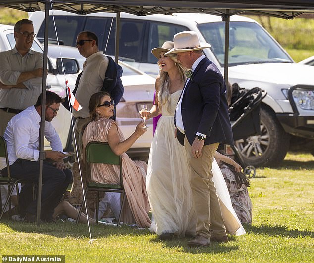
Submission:
<svg viewBox="0 0 314 263">
<path fill-rule="evenodd" d="M 197 25 L 221 66 L 224 66 L 224 22 Z M 230 22 L 229 65 L 292 62 L 256 23 Z"/>
</svg>

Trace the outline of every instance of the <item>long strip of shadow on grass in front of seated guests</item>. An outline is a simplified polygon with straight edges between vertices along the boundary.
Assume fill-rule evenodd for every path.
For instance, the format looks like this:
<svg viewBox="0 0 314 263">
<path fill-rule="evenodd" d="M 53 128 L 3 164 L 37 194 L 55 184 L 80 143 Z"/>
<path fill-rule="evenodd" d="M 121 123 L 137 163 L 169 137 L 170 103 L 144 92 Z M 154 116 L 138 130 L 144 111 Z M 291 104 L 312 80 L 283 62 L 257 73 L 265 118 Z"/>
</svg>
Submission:
<svg viewBox="0 0 314 263">
<path fill-rule="evenodd" d="M 70 222 L 57 222 L 57 223 L 42 223 L 37 226 L 35 223 L 23 223 L 13 221 L 1 221 L 8 228 L 24 233 L 37 233 L 43 235 L 51 235 L 59 238 L 73 237 L 73 238 L 89 238 L 89 230 L 87 224 L 78 224 Z M 101 238 L 109 236 L 142 236 L 149 233 L 146 229 L 138 229 L 130 226 L 108 226 L 103 224 L 90 225 L 92 238 Z M 5 230 L 4 230 L 5 231 Z"/>
</svg>

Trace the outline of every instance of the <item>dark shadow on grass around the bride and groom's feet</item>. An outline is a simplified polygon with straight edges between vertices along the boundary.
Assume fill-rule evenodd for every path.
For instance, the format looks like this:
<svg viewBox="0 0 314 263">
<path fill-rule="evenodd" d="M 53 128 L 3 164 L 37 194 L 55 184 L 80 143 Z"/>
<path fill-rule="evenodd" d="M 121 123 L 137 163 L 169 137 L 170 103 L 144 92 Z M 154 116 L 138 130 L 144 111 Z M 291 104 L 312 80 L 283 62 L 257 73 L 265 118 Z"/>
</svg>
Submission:
<svg viewBox="0 0 314 263">
<path fill-rule="evenodd" d="M 229 241 L 235 240 L 234 236 L 228 236 Z M 199 254 L 199 253 L 208 253 L 208 254 L 218 254 L 218 253 L 229 253 L 235 250 L 238 250 L 238 246 L 228 245 L 227 243 L 217 243 L 211 242 L 209 247 L 197 247 L 191 248 L 187 245 L 188 241 L 192 238 L 176 238 L 174 237 L 171 240 L 160 240 L 159 237 L 154 237 L 150 239 L 150 242 L 162 243 L 163 247 L 166 248 L 178 248 L 185 253 Z"/>
</svg>

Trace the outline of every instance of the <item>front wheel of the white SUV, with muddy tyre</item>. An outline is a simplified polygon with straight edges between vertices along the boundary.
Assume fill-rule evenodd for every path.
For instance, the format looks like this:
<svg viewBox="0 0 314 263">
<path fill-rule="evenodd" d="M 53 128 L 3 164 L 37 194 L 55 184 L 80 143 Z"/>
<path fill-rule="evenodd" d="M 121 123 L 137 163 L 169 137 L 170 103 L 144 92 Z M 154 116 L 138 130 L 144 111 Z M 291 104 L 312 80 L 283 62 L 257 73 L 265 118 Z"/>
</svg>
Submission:
<svg viewBox="0 0 314 263">
<path fill-rule="evenodd" d="M 278 166 L 289 148 L 289 135 L 269 110 L 261 108 L 261 135 L 235 141 L 246 165 Z"/>
</svg>

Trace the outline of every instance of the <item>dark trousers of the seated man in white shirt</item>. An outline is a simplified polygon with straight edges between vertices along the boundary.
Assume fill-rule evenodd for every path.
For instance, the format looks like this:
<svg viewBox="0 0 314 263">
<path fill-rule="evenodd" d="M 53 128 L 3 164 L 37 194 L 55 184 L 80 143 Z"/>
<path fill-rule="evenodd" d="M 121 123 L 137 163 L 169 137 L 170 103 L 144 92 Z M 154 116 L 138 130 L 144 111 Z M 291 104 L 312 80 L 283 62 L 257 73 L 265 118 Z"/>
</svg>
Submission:
<svg viewBox="0 0 314 263">
<path fill-rule="evenodd" d="M 10 165 L 11 176 L 16 179 L 24 179 L 38 184 L 39 162 L 25 159 L 17 159 Z M 3 176 L 7 176 L 6 168 L 1 170 Z M 41 218 L 49 220 L 52 218 L 54 208 L 59 204 L 64 192 L 72 180 L 72 172 L 69 169 L 59 170 L 50 163 L 43 163 L 43 186 L 41 202 Z M 20 192 L 21 216 L 26 212 L 36 214 L 37 200 L 33 201 L 32 186 L 24 185 Z"/>
</svg>

